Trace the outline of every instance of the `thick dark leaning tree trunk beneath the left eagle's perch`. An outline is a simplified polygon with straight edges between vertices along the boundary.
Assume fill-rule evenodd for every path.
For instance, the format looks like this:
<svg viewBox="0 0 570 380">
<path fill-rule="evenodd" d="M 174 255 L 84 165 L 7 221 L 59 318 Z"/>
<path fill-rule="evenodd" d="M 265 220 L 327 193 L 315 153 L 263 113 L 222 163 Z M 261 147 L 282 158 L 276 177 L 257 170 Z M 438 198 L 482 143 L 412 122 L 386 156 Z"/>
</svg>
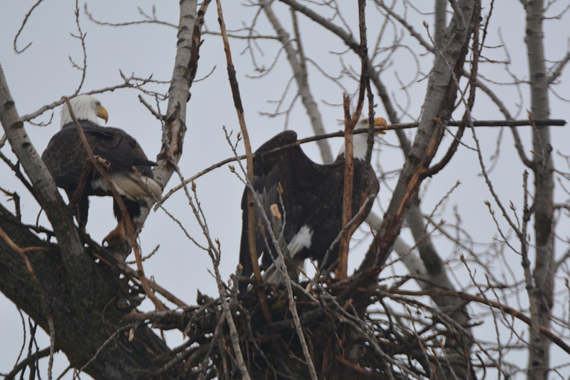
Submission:
<svg viewBox="0 0 570 380">
<path fill-rule="evenodd" d="M 68 275 L 58 246 L 39 239 L 1 205 L 0 227 L 19 247 L 41 248 L 27 251 L 38 279 L 32 281 L 24 260 L 0 239 L 0 291 L 48 333 L 51 318 L 55 349 L 66 354 L 71 366 L 81 368 L 92 359 L 84 371 L 95 379 L 148 378 L 169 358 L 168 347 L 144 324 L 132 326 L 134 336 L 129 340 L 131 328 L 121 322 L 131 311 L 124 301 L 127 284 L 115 269 L 91 259 L 93 292 L 82 295 L 72 291 L 77 284 Z"/>
</svg>

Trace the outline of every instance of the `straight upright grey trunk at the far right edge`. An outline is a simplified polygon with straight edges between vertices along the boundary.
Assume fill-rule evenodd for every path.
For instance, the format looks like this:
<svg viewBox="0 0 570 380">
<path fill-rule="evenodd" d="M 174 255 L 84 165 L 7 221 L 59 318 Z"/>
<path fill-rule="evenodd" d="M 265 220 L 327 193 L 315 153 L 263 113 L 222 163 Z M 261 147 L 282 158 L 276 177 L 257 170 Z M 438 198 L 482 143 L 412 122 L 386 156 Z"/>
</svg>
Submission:
<svg viewBox="0 0 570 380">
<path fill-rule="evenodd" d="M 529 74 L 531 78 L 531 104 L 534 119 L 548 119 L 548 75 L 544 58 L 543 17 L 544 1 L 530 0 L 526 5 L 527 28 L 526 44 Z M 532 320 L 545 328 L 550 326 L 553 292 L 554 234 L 553 234 L 553 164 L 551 158 L 550 127 L 537 126 L 532 136 L 534 157 L 532 170 L 535 175 L 535 236 L 536 267 L 529 297 Z M 527 287 L 529 284 L 527 284 Z M 528 378 L 546 379 L 549 368 L 550 342 L 538 329 L 531 328 L 528 356 Z"/>
</svg>

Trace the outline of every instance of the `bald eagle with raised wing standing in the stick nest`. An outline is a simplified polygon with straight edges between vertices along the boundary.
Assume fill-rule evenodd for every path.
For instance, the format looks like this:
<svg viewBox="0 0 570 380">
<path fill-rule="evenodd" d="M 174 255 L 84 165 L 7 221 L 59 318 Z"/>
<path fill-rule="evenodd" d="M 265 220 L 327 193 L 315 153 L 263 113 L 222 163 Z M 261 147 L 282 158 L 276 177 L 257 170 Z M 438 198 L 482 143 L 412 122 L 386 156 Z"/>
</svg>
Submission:
<svg viewBox="0 0 570 380">
<path fill-rule="evenodd" d="M 365 121 L 365 124 L 368 124 L 368 121 Z M 386 125 L 386 120 L 378 117 L 374 120 L 374 124 Z M 260 146 L 255 153 L 267 152 L 296 141 L 297 134 L 292 130 L 286 130 Z M 355 169 L 352 216 L 355 216 L 360 210 L 364 199 L 372 194 L 375 196 L 380 189 L 374 170 L 369 167 L 368 171 L 364 173 L 366 152 L 367 134 L 355 134 L 353 136 Z M 342 229 L 344 163 L 344 144 L 336 161 L 328 165 L 320 165 L 311 161 L 298 145 L 291 149 L 254 158 L 253 187 L 267 215 L 271 215 L 271 205 L 275 203 L 279 205 L 278 183 L 283 189 L 284 210 L 279 206 L 279 210 L 283 214 L 283 236 L 291 258 L 296 265 L 300 265 L 304 259 L 310 258 L 316 260 L 321 269 L 326 269 L 339 256 L 339 247 L 336 244 L 329 252 L 327 261 L 323 262 L 327 250 Z M 363 175 L 368 176 L 368 185 L 365 189 L 362 187 Z M 372 202 L 368 202 L 361 222 L 368 215 L 371 207 Z M 249 253 L 247 188 L 243 191 L 242 210 L 243 223 L 239 262 L 243 266 L 242 274 L 251 276 L 253 266 Z M 271 220 L 271 216 L 268 218 Z M 274 258 L 278 258 L 277 253 L 257 208 L 256 219 L 255 246 L 257 247 L 258 258 L 263 254 L 260 268 L 265 271 L 264 281 L 268 283 L 283 282 L 281 272 L 273 264 Z M 266 231 L 271 254 L 268 253 L 260 225 L 263 225 L 263 230 Z M 242 295 L 246 288 L 247 283 L 242 281 L 239 284 L 239 291 Z"/>
</svg>

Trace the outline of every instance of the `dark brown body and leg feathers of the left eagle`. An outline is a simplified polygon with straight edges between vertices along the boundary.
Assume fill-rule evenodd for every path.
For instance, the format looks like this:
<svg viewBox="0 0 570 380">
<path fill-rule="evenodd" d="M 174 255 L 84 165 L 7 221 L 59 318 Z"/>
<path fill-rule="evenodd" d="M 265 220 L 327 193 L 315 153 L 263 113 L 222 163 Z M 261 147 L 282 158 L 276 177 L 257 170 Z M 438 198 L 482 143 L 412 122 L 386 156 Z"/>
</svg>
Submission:
<svg viewBox="0 0 570 380">
<path fill-rule="evenodd" d="M 132 167 L 136 166 L 141 174 L 153 178 L 151 166 L 156 164 L 146 158 L 141 146 L 127 132 L 119 128 L 100 126 L 86 120 L 80 120 L 80 125 L 85 132 L 87 142 L 93 150 L 93 154 L 107 160 L 109 173 L 132 171 Z M 83 148 L 74 123 L 64 125 L 51 138 L 46 150 L 42 153 L 42 159 L 46 163 L 47 169 L 53 175 L 56 185 L 66 191 L 71 201 L 87 162 L 87 152 Z M 89 195 L 112 195 L 109 191 L 93 188 L 91 180 L 97 177 L 99 177 L 99 174 L 91 170 L 91 175 L 78 202 L 78 219 L 83 227 L 87 223 L 88 216 L 89 203 L 87 197 Z M 131 218 L 140 214 L 138 202 L 127 197 L 123 197 L 123 201 Z M 116 202 L 113 203 L 113 210 L 117 219 L 120 220 L 121 213 Z"/>
</svg>

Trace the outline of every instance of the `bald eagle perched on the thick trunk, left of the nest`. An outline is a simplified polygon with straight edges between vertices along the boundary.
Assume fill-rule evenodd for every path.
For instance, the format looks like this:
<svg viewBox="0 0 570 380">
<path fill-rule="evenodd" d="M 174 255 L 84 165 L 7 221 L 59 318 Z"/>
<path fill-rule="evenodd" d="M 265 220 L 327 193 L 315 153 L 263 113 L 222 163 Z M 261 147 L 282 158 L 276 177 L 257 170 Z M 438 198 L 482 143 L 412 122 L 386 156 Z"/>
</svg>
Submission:
<svg viewBox="0 0 570 380">
<path fill-rule="evenodd" d="M 70 100 L 71 108 L 83 132 L 93 154 L 103 161 L 109 177 L 117 191 L 121 195 L 125 207 L 131 219 L 140 215 L 139 201 L 145 197 L 160 197 L 161 186 L 154 181 L 151 166 L 156 163 L 149 161 L 141 146 L 135 138 L 119 128 L 101 126 L 98 117 L 108 120 L 107 110 L 100 101 L 91 95 L 78 95 Z M 111 195 L 112 192 L 107 182 L 87 165 L 87 152 L 79 139 L 79 132 L 71 119 L 70 111 L 64 104 L 61 109 L 62 128 L 48 142 L 46 150 L 42 153 L 42 159 L 47 169 L 55 179 L 57 186 L 64 189 L 70 202 L 78 189 L 82 173 L 88 174 L 82 194 L 78 197 L 78 213 L 76 217 L 79 226 L 85 228 L 89 211 L 89 195 L 99 197 Z M 135 172 L 133 167 L 140 173 Z M 119 222 L 117 228 L 105 238 L 107 242 L 118 237 L 125 242 L 125 230 L 123 215 L 119 205 L 113 199 L 113 211 Z"/>
</svg>

